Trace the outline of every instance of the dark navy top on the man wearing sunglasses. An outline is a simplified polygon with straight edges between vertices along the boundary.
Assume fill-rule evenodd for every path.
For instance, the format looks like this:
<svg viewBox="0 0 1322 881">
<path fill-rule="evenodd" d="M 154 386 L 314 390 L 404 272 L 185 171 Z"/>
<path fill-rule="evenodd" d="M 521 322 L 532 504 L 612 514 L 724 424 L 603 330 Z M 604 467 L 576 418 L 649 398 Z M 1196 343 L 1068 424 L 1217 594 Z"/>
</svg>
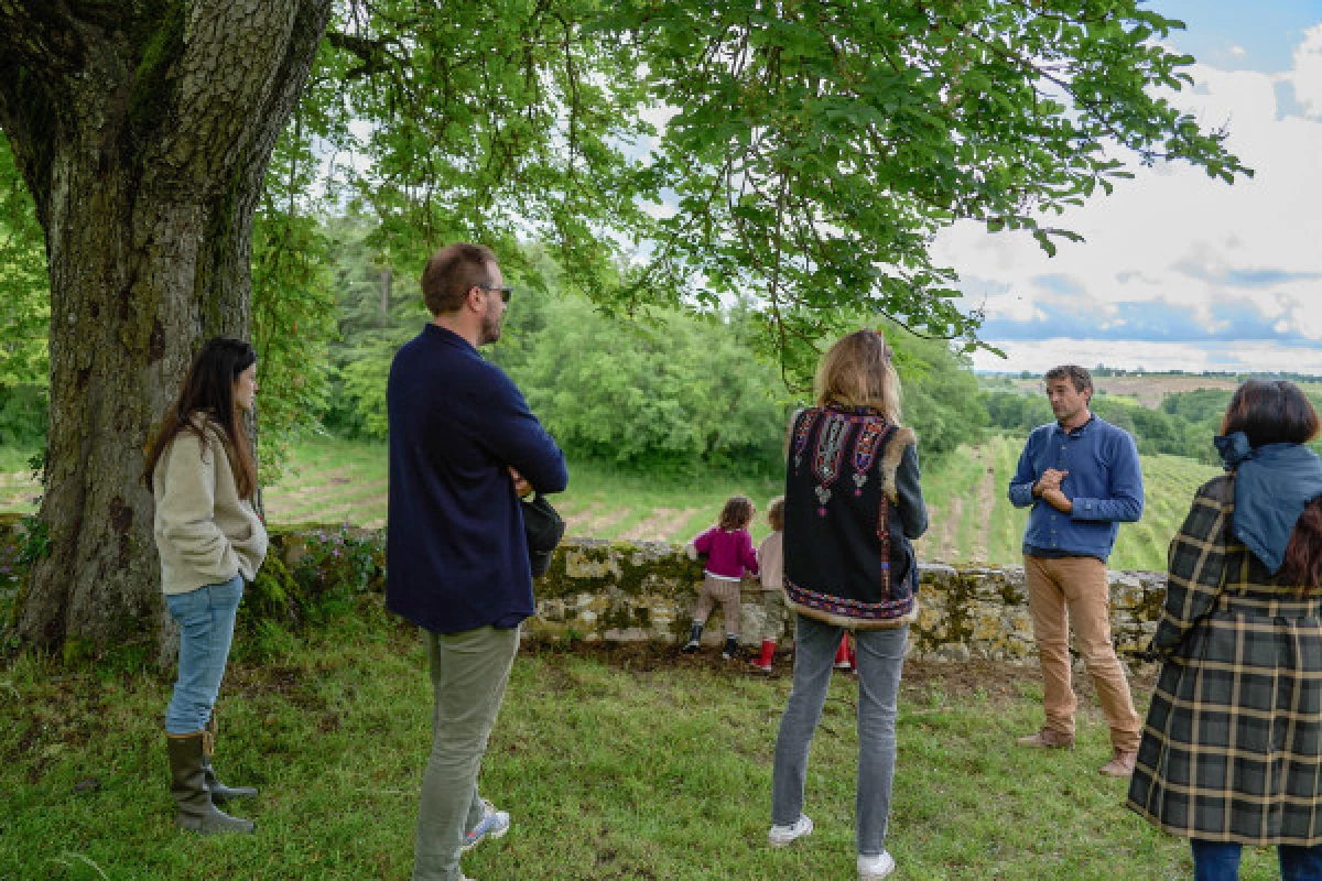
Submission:
<svg viewBox="0 0 1322 881">
<path fill-rule="evenodd" d="M 506 466 L 538 493 L 563 491 L 559 446 L 500 367 L 434 324 L 395 353 L 386 404 L 386 608 L 434 633 L 531 616 L 524 515 Z"/>
</svg>

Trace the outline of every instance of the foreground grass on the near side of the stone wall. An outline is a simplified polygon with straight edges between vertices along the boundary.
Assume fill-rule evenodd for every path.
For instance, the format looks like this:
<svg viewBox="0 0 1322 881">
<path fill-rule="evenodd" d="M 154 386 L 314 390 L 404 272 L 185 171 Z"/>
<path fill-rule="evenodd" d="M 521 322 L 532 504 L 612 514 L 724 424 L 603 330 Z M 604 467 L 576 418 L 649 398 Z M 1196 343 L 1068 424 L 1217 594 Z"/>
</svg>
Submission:
<svg viewBox="0 0 1322 881">
<path fill-rule="evenodd" d="M 0 878 L 407 878 L 430 688 L 379 597 L 283 651 L 241 634 L 222 688 L 218 769 L 262 789 L 254 836 L 175 831 L 149 671 L 0 667 Z M 241 613 L 242 614 L 242 613 Z M 292 639 L 292 638 L 291 638 Z M 813 745 L 817 831 L 765 845 L 787 663 L 751 678 L 672 649 L 526 650 L 483 771 L 510 833 L 464 860 L 480 881 L 853 878 L 857 684 L 837 676 Z M 1136 683 L 1140 704 L 1147 684 Z M 898 878 L 1188 878 L 1187 845 L 1122 808 L 1085 693 L 1079 746 L 1018 749 L 1040 722 L 1031 670 L 910 664 L 888 847 Z M 1266 852 L 1249 881 L 1274 878 Z"/>
</svg>

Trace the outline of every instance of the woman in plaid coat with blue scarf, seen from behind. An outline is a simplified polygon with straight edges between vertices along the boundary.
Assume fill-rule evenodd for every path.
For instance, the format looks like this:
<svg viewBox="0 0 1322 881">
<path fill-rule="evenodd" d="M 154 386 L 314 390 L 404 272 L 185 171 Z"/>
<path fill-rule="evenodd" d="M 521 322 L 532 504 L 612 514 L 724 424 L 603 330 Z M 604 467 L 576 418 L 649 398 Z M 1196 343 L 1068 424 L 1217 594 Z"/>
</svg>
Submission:
<svg viewBox="0 0 1322 881">
<path fill-rule="evenodd" d="M 1170 544 L 1150 652 L 1165 659 L 1128 806 L 1191 839 L 1198 881 L 1277 845 L 1281 877 L 1322 878 L 1322 460 L 1289 382 L 1249 380 Z"/>
</svg>

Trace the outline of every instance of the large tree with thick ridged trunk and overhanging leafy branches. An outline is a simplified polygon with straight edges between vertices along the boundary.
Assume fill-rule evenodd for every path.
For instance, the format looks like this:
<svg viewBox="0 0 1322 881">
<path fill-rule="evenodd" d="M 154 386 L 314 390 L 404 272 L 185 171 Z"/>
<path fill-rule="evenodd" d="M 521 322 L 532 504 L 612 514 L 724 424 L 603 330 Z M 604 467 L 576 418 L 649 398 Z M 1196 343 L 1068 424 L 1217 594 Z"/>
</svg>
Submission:
<svg viewBox="0 0 1322 881">
<path fill-rule="evenodd" d="M 50 556 L 20 637 L 156 631 L 141 442 L 198 341 L 253 329 L 254 221 L 300 100 L 336 147 L 364 123 L 336 177 L 387 265 L 545 239 L 598 302 L 735 291 L 791 351 L 842 306 L 970 334 L 927 251 L 957 219 L 1051 250 L 1073 236 L 1044 217 L 1125 156 L 1244 170 L 1165 96 L 1192 61 L 1155 40 L 1171 25 L 1138 0 L 0 1 L 52 316 Z"/>
</svg>

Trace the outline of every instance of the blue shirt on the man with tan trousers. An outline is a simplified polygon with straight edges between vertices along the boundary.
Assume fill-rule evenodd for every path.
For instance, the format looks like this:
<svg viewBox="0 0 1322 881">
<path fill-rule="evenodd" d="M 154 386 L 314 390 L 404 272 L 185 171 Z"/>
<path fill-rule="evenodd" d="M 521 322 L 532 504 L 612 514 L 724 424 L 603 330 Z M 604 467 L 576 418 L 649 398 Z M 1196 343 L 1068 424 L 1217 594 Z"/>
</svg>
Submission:
<svg viewBox="0 0 1322 881">
<path fill-rule="evenodd" d="M 1068 472 L 1060 490 L 1073 502 L 1072 514 L 1032 494 L 1048 468 Z M 1129 432 L 1096 416 L 1069 432 L 1058 423 L 1039 425 L 1019 456 L 1009 495 L 1015 507 L 1032 506 L 1025 553 L 1095 556 L 1105 563 L 1120 524 L 1144 514 L 1138 448 Z"/>
</svg>

